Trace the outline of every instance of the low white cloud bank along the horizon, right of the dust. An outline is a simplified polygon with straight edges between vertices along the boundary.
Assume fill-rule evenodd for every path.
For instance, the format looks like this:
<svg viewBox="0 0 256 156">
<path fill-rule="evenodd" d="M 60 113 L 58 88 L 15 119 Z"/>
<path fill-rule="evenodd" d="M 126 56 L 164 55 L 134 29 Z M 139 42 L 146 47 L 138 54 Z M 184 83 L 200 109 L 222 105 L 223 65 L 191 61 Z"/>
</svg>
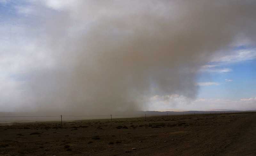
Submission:
<svg viewBox="0 0 256 156">
<path fill-rule="evenodd" d="M 175 98 L 171 99 L 171 96 L 153 96 L 157 98 L 151 101 L 147 110 L 256 110 L 256 97 L 236 101 L 229 99 L 191 99 L 175 94 L 173 95 Z M 169 97 L 169 99 L 166 100 L 166 97 Z"/>
</svg>

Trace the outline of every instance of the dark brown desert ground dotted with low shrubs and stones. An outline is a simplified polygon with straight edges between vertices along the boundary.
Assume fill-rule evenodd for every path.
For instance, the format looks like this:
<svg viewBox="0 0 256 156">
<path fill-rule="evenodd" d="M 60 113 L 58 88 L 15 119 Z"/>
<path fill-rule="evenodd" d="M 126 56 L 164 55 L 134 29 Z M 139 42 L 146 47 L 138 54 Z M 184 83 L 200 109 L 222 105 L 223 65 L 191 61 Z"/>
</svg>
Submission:
<svg viewBox="0 0 256 156">
<path fill-rule="evenodd" d="M 256 155 L 256 113 L 0 124 L 0 155 Z"/>
</svg>

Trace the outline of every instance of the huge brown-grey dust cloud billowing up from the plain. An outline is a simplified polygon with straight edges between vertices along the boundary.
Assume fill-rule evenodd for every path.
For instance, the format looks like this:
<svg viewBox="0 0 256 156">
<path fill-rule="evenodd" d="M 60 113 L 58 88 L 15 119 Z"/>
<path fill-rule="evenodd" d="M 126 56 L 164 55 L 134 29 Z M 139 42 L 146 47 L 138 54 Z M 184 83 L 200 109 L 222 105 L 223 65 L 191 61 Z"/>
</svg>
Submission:
<svg viewBox="0 0 256 156">
<path fill-rule="evenodd" d="M 195 98 L 200 66 L 256 34 L 255 1 L 44 2 L 34 4 L 37 44 L 54 65 L 30 71 L 21 95 L 36 111 L 104 115 L 152 95 Z"/>
</svg>

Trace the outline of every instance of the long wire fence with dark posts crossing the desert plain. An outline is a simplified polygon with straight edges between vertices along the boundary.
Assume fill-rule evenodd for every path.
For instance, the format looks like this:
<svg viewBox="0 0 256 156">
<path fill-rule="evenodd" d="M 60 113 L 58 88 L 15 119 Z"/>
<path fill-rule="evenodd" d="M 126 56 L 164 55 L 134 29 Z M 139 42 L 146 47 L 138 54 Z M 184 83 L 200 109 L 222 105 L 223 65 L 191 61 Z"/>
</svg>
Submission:
<svg viewBox="0 0 256 156">
<path fill-rule="evenodd" d="M 166 116 L 167 118 L 171 118 L 172 116 L 178 116 L 178 115 L 192 115 L 192 116 L 198 116 L 198 115 L 221 115 L 221 114 L 234 114 L 234 113 L 249 113 L 249 112 L 256 112 L 255 110 L 252 111 L 216 111 L 216 112 L 197 112 L 197 113 L 157 113 L 157 114 L 127 114 L 127 115 L 59 115 L 59 116 L 0 116 L 0 123 L 6 123 L 6 122 L 32 122 L 32 121 L 61 121 L 62 123 L 62 117 L 64 117 L 65 121 L 68 120 L 87 120 L 88 118 L 84 119 L 81 117 L 90 117 L 89 119 L 111 119 L 112 117 L 117 118 L 132 118 L 135 116 L 145 117 L 145 120 L 147 120 L 147 117 L 155 117 L 155 116 Z M 49 119 L 49 117 L 53 117 Z M 66 118 L 67 117 L 67 118 Z M 73 118 L 72 118 L 73 117 Z M 74 118 L 74 117 L 80 117 L 80 118 Z M 11 120 L 10 118 L 18 118 L 16 120 Z M 39 120 L 40 119 L 40 120 Z"/>
</svg>

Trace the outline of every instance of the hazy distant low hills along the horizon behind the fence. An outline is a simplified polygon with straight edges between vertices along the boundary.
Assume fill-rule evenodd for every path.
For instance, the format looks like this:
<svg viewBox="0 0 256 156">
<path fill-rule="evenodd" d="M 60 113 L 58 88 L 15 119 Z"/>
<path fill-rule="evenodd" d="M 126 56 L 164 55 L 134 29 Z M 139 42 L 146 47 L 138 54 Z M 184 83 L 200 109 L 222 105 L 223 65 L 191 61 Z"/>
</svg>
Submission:
<svg viewBox="0 0 256 156">
<path fill-rule="evenodd" d="M 252 110 L 250 110 L 252 111 Z M 11 122 L 35 122 L 35 121 L 74 121 L 87 119 L 109 119 L 111 118 L 130 118 L 130 117 L 147 117 L 149 116 L 172 116 L 188 114 L 222 114 L 232 112 L 244 112 L 241 110 L 221 110 L 212 109 L 205 111 L 196 110 L 179 110 L 179 111 L 122 111 L 113 112 L 112 114 L 86 114 L 84 112 L 61 112 L 61 111 L 40 111 L 40 112 L 0 112 L 0 123 Z M 62 115 L 62 117 L 60 117 Z"/>
</svg>

